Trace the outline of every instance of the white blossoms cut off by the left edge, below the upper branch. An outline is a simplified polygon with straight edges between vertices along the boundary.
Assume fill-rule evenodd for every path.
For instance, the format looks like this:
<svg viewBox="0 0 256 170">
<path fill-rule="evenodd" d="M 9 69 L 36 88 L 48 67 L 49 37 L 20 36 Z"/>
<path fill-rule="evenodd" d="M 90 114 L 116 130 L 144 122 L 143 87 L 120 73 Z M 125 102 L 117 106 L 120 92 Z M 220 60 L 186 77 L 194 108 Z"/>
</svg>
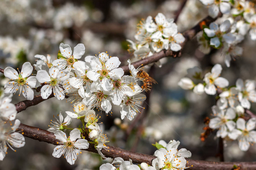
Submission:
<svg viewBox="0 0 256 170">
<path fill-rule="evenodd" d="M 12 94 L 4 96 L 3 91 L 0 90 L 0 161 L 2 161 L 7 154 L 7 149 L 13 147 L 23 147 L 25 145 L 24 136 L 15 132 L 20 125 L 16 117 L 16 107 L 10 103 L 12 101 Z"/>
</svg>

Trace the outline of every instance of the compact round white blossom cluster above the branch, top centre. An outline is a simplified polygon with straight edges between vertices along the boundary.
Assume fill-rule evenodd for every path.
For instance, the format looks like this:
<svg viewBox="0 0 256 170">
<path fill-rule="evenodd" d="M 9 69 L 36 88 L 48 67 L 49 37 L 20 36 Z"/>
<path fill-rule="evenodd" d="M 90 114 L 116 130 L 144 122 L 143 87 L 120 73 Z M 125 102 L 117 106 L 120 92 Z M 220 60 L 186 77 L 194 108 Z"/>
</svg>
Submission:
<svg viewBox="0 0 256 170">
<path fill-rule="evenodd" d="M 145 58 L 163 49 L 179 51 L 185 38 L 178 33 L 177 28 L 174 19 L 166 18 L 162 13 L 157 14 L 155 22 L 152 16 L 148 16 L 138 24 L 138 31 L 134 36 L 136 42 L 127 40 L 131 43 L 129 50 L 134 52 L 136 58 Z"/>
</svg>

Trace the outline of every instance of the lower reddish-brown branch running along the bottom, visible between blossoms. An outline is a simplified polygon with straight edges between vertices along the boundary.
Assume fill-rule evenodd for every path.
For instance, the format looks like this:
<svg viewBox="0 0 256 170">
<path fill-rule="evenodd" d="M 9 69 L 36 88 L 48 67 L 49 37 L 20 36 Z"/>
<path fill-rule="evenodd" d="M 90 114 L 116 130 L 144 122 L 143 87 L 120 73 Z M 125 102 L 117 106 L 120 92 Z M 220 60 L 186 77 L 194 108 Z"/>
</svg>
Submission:
<svg viewBox="0 0 256 170">
<path fill-rule="evenodd" d="M 19 128 L 17 131 L 20 131 L 23 133 L 25 137 L 35 139 L 41 142 L 47 142 L 50 144 L 57 145 L 58 141 L 55 139 L 54 133 L 36 128 L 33 126 L 29 125 L 24 125 L 20 124 Z M 133 163 L 142 163 L 146 162 L 151 165 L 152 160 L 156 158 L 155 156 L 152 155 L 146 155 L 143 153 L 136 153 L 136 152 L 131 152 L 128 150 L 123 150 L 118 147 L 113 147 L 113 146 L 107 146 L 109 147 L 108 150 L 102 149 L 102 153 L 106 157 L 110 158 L 116 158 L 116 157 L 121 157 L 126 161 L 129 161 L 129 159 L 132 160 Z M 97 150 L 95 150 L 93 144 L 90 144 L 88 149 L 85 149 L 86 151 L 89 152 L 94 152 L 97 153 Z M 188 161 L 187 166 L 193 165 L 190 169 L 196 169 L 196 170 L 215 170 L 215 169 L 222 169 L 222 170 L 231 170 L 234 165 L 240 167 L 241 169 L 255 169 L 256 167 L 256 162 L 213 162 L 213 161 L 199 161 L 199 160 L 191 160 L 191 159 L 186 159 Z"/>
</svg>

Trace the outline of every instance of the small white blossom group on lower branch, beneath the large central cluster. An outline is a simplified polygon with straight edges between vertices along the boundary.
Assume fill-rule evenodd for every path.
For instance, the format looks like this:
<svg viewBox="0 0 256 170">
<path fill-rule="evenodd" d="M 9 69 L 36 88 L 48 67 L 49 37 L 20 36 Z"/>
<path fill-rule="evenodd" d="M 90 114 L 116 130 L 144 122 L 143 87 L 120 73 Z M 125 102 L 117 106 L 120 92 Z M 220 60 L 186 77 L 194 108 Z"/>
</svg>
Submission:
<svg viewBox="0 0 256 170">
<path fill-rule="evenodd" d="M 95 111 L 90 109 L 90 107 L 86 107 L 85 103 L 78 102 L 74 105 L 73 112 L 66 111 L 66 114 L 67 116 L 64 118 L 62 113 L 60 113 L 59 119 L 51 120 L 51 125 L 49 125 L 50 128 L 48 131 L 53 132 L 56 139 L 60 140 L 58 144 L 62 144 L 54 148 L 52 155 L 56 158 L 65 155 L 67 162 L 73 165 L 77 159 L 79 150 L 89 147 L 88 141 L 81 139 L 81 133 L 86 133 L 95 144 L 98 153 L 102 158 L 106 158 L 101 150 L 107 150 L 107 146 L 105 145 L 105 143 L 108 142 L 107 136 L 101 133 L 102 131 L 97 123 L 99 118 L 95 115 Z M 71 118 L 80 119 L 83 125 L 82 128 L 73 129 L 70 132 L 70 136 L 67 138 L 63 131 L 72 129 L 68 128 L 72 120 Z"/>
</svg>

